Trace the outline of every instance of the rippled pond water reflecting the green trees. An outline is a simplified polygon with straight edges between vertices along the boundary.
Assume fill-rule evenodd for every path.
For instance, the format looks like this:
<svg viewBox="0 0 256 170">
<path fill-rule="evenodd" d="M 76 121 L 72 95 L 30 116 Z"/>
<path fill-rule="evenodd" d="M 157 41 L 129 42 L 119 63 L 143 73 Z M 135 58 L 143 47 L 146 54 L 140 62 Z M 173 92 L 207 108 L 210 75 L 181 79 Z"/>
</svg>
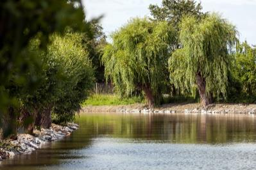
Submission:
<svg viewBox="0 0 256 170">
<path fill-rule="evenodd" d="M 4 170 L 255 169 L 252 115 L 86 113 L 71 137 L 0 163 Z"/>
</svg>

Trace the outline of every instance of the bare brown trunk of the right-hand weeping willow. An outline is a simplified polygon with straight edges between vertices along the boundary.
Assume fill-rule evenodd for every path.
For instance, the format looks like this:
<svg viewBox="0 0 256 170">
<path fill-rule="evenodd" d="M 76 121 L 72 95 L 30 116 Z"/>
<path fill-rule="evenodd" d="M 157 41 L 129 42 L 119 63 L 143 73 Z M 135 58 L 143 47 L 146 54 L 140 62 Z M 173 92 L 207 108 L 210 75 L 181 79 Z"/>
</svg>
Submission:
<svg viewBox="0 0 256 170">
<path fill-rule="evenodd" d="M 201 72 L 196 74 L 196 83 L 198 85 L 198 90 L 200 94 L 200 101 L 202 106 L 208 106 L 212 104 L 212 94 L 207 94 L 206 92 L 206 81 Z"/>
</svg>

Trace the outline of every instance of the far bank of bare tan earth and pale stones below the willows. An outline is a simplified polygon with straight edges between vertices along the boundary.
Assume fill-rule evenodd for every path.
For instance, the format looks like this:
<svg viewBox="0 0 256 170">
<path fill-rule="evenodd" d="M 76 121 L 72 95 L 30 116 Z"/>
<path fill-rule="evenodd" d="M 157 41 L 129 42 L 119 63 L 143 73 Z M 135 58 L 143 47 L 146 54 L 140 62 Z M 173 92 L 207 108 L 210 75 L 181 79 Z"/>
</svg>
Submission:
<svg viewBox="0 0 256 170">
<path fill-rule="evenodd" d="M 168 104 L 148 108 L 144 104 L 118 106 L 84 106 L 80 112 L 121 112 L 121 113 L 155 113 L 155 114 L 256 114 L 256 105 L 213 104 L 202 107 L 200 103 Z"/>
</svg>

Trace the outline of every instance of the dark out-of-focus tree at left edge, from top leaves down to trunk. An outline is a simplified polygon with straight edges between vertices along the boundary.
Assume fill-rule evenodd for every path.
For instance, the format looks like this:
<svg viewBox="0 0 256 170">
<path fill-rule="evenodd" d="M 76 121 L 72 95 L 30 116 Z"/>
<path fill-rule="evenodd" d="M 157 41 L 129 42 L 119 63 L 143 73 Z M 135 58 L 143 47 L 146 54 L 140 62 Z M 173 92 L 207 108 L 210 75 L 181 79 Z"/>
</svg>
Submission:
<svg viewBox="0 0 256 170">
<path fill-rule="evenodd" d="M 41 33 L 40 49 L 46 49 L 49 35 L 62 33 L 66 26 L 75 30 L 89 31 L 89 24 L 80 0 L 61 1 L 15 1 L 0 2 L 0 118 L 4 137 L 16 132 L 19 114 L 17 86 L 31 89 L 35 80 L 26 80 L 31 62 L 39 63 L 33 53 L 28 52 L 31 38 Z M 17 96 L 18 95 L 18 96 Z M 12 110 L 12 113 L 10 113 Z"/>
</svg>

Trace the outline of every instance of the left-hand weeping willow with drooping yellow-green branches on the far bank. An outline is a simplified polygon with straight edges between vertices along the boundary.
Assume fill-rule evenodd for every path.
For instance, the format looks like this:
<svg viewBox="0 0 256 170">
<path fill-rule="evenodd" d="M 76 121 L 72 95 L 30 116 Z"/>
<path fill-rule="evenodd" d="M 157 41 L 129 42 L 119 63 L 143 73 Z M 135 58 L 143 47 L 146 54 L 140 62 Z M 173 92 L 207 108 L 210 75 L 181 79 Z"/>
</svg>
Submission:
<svg viewBox="0 0 256 170">
<path fill-rule="evenodd" d="M 118 94 L 130 96 L 139 90 L 150 107 L 160 102 L 173 35 L 167 22 L 146 18 L 132 19 L 112 34 L 113 43 L 105 47 L 102 62 Z"/>
</svg>

